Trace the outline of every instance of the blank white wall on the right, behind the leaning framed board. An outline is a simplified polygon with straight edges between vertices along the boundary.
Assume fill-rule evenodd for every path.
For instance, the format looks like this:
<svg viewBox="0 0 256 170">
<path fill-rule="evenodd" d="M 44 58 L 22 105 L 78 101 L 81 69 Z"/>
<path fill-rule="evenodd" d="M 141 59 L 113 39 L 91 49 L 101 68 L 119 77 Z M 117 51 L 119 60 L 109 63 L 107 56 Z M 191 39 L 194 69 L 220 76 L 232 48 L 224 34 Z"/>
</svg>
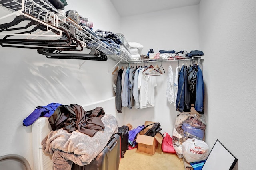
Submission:
<svg viewBox="0 0 256 170">
<path fill-rule="evenodd" d="M 219 139 L 238 158 L 239 170 L 256 166 L 255 6 L 254 0 L 200 2 L 206 142 L 212 147 Z"/>
</svg>

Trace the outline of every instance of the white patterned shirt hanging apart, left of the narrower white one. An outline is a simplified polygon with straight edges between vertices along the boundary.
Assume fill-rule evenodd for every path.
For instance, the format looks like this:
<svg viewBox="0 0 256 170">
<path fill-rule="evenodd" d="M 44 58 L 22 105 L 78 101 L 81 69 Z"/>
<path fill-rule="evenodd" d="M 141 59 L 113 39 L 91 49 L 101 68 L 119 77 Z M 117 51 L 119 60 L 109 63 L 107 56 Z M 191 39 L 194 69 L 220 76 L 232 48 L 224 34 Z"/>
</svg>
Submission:
<svg viewBox="0 0 256 170">
<path fill-rule="evenodd" d="M 173 72 L 171 65 L 169 66 L 168 69 L 166 98 L 170 104 L 174 102 Z"/>
</svg>

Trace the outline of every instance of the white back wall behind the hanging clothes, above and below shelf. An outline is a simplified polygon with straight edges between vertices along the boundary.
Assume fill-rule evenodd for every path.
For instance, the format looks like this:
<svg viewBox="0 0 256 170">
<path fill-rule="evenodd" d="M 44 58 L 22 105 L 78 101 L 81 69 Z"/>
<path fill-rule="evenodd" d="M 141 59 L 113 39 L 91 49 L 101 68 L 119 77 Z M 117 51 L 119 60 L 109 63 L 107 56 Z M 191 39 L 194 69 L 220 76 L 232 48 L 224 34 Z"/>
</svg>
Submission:
<svg viewBox="0 0 256 170">
<path fill-rule="evenodd" d="M 142 54 L 145 55 L 150 48 L 154 49 L 154 52 L 159 50 L 175 50 L 176 52 L 187 50 L 190 52 L 199 49 L 198 5 L 122 17 L 121 27 L 128 42 L 135 41 L 144 46 Z M 125 124 L 130 123 L 136 128 L 138 125 L 143 125 L 146 120 L 157 121 L 161 123 L 162 132 L 172 135 L 178 112 L 175 111 L 174 103 L 170 105 L 166 98 L 168 67 L 171 64 L 175 74 L 177 65 L 182 66 L 182 63 L 183 61 L 179 63 L 178 61 L 162 62 L 166 73 L 156 76 L 155 107 L 146 109 L 134 109 L 133 107 L 131 110 L 124 108 Z M 189 61 L 187 63 L 189 65 Z M 161 65 L 160 62 L 149 64 Z"/>
</svg>

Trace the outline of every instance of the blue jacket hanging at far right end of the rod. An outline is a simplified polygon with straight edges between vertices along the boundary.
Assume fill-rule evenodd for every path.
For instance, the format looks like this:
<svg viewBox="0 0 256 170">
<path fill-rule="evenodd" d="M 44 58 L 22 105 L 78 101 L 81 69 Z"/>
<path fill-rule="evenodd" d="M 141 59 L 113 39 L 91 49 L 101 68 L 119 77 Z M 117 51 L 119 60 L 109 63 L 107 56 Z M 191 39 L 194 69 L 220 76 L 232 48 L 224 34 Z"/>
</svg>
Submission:
<svg viewBox="0 0 256 170">
<path fill-rule="evenodd" d="M 195 110 L 200 114 L 204 114 L 204 80 L 201 68 L 197 66 L 197 69 Z"/>
</svg>

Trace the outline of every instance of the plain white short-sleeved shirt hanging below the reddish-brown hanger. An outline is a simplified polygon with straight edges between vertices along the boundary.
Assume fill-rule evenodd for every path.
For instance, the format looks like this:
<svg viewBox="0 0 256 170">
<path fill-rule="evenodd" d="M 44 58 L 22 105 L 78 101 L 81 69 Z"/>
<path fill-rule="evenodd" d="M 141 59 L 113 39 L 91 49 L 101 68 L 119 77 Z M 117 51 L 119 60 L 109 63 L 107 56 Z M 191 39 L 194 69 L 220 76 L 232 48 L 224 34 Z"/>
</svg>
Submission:
<svg viewBox="0 0 256 170">
<path fill-rule="evenodd" d="M 156 76 L 150 76 L 143 74 L 144 68 L 140 70 L 138 76 L 138 89 L 140 90 L 140 108 L 155 106 L 155 87 L 156 87 Z M 149 72 L 150 69 L 146 70 Z"/>
</svg>

